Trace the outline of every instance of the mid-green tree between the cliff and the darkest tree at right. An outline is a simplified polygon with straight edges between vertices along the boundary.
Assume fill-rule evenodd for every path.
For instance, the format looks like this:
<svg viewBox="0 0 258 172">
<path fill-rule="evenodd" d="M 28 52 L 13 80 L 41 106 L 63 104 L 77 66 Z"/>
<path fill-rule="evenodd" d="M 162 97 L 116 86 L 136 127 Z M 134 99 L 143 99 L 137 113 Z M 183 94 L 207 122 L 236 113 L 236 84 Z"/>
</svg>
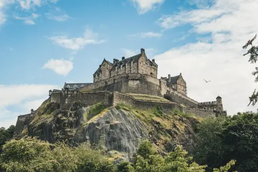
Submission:
<svg viewBox="0 0 258 172">
<path fill-rule="evenodd" d="M 194 155 L 194 161 L 206 164 L 208 171 L 225 163 L 223 162 L 224 147 L 218 133 L 222 132 L 226 119 L 226 116 L 210 117 L 196 124 L 195 145 L 191 155 Z"/>
</svg>

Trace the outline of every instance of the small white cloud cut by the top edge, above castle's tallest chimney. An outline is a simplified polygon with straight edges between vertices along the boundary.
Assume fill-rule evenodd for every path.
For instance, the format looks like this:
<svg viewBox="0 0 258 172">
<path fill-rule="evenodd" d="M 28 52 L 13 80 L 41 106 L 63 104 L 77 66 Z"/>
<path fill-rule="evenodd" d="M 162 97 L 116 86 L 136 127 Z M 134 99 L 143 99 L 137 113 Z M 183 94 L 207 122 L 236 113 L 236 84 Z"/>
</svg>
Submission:
<svg viewBox="0 0 258 172">
<path fill-rule="evenodd" d="M 157 8 L 165 0 L 130 0 L 139 14 L 144 14 L 149 10 Z"/>
</svg>

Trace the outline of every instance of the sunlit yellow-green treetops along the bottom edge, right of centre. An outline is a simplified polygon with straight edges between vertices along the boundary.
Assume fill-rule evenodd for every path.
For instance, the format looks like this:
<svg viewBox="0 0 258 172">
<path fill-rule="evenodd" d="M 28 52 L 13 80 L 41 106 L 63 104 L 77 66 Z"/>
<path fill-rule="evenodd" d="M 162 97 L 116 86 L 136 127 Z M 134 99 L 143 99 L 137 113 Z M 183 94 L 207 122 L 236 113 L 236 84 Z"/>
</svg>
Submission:
<svg viewBox="0 0 258 172">
<path fill-rule="evenodd" d="M 146 152 L 144 154 L 144 151 Z M 187 156 L 188 152 L 181 145 L 165 157 L 157 154 L 153 144 L 143 141 L 136 152 L 132 164 L 128 164 L 125 172 L 205 172 L 206 165 L 200 166 L 192 162 L 193 157 Z M 225 167 L 214 169 L 214 172 L 226 172 L 235 161 Z M 128 170 L 127 170 L 128 169 Z"/>
</svg>

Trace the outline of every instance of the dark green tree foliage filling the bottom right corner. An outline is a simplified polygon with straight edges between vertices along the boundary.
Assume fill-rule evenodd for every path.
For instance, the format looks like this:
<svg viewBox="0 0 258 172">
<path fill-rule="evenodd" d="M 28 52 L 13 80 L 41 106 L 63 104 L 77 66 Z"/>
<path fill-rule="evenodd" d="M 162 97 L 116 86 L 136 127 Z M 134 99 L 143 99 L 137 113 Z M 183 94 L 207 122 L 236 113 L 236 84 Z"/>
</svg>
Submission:
<svg viewBox="0 0 258 172">
<path fill-rule="evenodd" d="M 207 164 L 207 171 L 230 160 L 239 172 L 258 171 L 258 114 L 253 112 L 207 118 L 197 125 L 194 161 Z"/>
</svg>

